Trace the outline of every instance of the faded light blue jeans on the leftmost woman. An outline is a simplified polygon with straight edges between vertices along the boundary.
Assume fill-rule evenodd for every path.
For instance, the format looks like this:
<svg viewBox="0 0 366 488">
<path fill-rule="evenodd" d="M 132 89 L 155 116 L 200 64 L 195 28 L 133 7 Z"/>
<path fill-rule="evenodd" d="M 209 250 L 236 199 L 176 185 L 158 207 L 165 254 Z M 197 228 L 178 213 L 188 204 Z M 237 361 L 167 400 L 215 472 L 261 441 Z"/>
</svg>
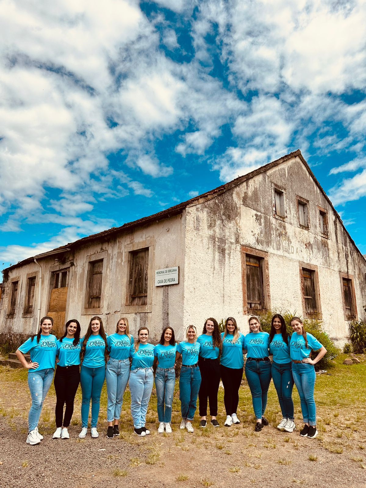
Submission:
<svg viewBox="0 0 366 488">
<path fill-rule="evenodd" d="M 29 432 L 38 427 L 43 402 L 50 389 L 53 373 L 53 368 L 37 369 L 36 371 L 29 369 L 28 386 L 32 397 L 32 406 L 30 407 L 28 414 Z"/>
</svg>

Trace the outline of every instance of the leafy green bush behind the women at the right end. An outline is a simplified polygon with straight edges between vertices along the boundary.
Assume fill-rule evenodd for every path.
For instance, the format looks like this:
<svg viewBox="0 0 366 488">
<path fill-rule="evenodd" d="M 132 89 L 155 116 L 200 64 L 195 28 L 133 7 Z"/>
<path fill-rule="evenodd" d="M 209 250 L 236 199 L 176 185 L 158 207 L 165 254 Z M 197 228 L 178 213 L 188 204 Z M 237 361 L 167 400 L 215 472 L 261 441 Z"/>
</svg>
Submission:
<svg viewBox="0 0 366 488">
<path fill-rule="evenodd" d="M 333 342 L 331 341 L 330 337 L 328 334 L 322 329 L 322 321 L 320 319 L 303 319 L 301 315 L 298 315 L 296 310 L 291 313 L 288 310 L 282 311 L 282 310 L 267 310 L 264 314 L 259 315 L 259 319 L 262 325 L 262 328 L 265 332 L 268 332 L 271 330 L 271 321 L 273 315 L 276 313 L 280 313 L 284 319 L 285 319 L 285 324 L 286 324 L 286 330 L 289 335 L 292 335 L 292 327 L 291 327 L 291 319 L 292 317 L 300 317 L 301 320 L 303 321 L 303 324 L 305 326 L 306 332 L 309 332 L 312 334 L 320 344 L 322 344 L 325 349 L 326 349 L 326 354 L 325 356 L 315 365 L 316 369 L 324 369 L 325 367 L 329 366 L 329 361 L 331 359 L 334 359 L 335 357 L 338 356 L 338 354 L 341 352 L 338 347 L 336 347 Z M 311 358 L 314 358 L 316 356 L 316 353 L 312 352 L 311 353 Z"/>
</svg>

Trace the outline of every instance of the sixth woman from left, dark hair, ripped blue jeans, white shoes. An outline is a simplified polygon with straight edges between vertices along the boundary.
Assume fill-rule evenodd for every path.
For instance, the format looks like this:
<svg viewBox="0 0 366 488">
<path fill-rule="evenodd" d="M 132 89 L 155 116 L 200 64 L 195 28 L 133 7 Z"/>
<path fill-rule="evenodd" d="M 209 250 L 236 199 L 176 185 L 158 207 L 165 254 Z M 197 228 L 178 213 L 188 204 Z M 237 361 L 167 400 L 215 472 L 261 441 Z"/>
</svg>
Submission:
<svg viewBox="0 0 366 488">
<path fill-rule="evenodd" d="M 162 332 L 159 344 L 154 348 L 155 361 L 158 365 L 155 373 L 156 396 L 158 397 L 158 432 L 170 434 L 172 428 L 172 402 L 175 387 L 175 353 L 177 344 L 175 342 L 174 330 L 172 327 L 165 327 Z"/>
</svg>

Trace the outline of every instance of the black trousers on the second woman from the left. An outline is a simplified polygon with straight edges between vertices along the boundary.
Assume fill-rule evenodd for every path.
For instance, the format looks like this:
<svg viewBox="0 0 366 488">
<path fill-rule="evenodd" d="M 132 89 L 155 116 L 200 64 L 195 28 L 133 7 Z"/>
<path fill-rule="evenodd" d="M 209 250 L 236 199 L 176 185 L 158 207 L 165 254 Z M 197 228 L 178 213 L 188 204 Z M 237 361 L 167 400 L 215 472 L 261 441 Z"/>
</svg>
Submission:
<svg viewBox="0 0 366 488">
<path fill-rule="evenodd" d="M 69 427 L 74 412 L 75 395 L 80 383 L 80 366 L 57 366 L 53 383 L 56 391 L 56 427 Z M 63 417 L 65 404 L 65 416 Z"/>
</svg>

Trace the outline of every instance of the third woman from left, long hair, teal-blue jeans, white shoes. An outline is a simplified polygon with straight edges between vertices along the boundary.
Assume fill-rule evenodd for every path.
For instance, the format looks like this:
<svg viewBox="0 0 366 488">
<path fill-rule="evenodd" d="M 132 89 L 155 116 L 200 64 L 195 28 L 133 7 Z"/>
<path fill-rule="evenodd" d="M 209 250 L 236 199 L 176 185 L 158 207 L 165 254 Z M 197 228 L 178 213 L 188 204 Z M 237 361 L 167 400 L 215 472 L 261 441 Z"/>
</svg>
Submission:
<svg viewBox="0 0 366 488">
<path fill-rule="evenodd" d="M 100 317 L 92 317 L 88 330 L 81 345 L 81 432 L 79 437 L 83 439 L 88 431 L 88 419 L 90 400 L 92 402 L 91 436 L 99 437 L 97 430 L 99 410 L 101 404 L 102 386 L 105 380 L 105 363 L 108 345 L 104 332 L 103 322 Z"/>
</svg>

